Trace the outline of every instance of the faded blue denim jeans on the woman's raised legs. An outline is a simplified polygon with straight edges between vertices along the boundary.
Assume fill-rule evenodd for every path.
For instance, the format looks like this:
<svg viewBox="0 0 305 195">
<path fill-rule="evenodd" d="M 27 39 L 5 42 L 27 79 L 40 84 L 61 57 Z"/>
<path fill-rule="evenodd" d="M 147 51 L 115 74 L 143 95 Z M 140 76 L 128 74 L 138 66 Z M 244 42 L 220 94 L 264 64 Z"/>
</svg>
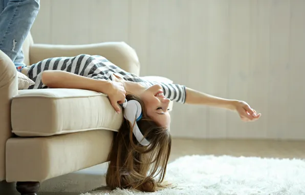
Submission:
<svg viewBox="0 0 305 195">
<path fill-rule="evenodd" d="M 22 45 L 38 14 L 40 0 L 0 0 L 0 50 L 15 66 L 24 64 Z"/>
</svg>

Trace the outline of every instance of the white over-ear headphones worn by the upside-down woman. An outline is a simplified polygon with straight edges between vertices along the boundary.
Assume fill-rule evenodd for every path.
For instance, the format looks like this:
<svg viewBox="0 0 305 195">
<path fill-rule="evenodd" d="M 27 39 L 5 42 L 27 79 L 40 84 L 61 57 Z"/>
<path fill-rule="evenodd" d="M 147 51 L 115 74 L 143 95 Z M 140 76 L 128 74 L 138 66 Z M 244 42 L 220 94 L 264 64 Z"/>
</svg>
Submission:
<svg viewBox="0 0 305 195">
<path fill-rule="evenodd" d="M 138 140 L 138 142 L 143 146 L 148 146 L 149 142 L 144 138 L 142 132 L 140 131 L 137 122 L 142 118 L 142 107 L 141 104 L 136 100 L 130 100 L 121 104 L 124 108 L 124 118 L 130 123 L 134 124 L 133 133 Z"/>
</svg>

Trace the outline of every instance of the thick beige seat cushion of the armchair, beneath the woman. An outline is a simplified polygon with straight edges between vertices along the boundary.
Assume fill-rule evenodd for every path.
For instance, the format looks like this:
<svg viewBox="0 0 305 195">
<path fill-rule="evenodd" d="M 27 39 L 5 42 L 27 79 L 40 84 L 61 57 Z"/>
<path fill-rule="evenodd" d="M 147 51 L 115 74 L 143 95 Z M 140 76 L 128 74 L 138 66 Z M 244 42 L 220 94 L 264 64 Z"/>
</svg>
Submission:
<svg viewBox="0 0 305 195">
<path fill-rule="evenodd" d="M 105 94 L 81 89 L 19 90 L 12 100 L 12 132 L 18 136 L 107 129 L 117 131 L 117 114 Z"/>
</svg>

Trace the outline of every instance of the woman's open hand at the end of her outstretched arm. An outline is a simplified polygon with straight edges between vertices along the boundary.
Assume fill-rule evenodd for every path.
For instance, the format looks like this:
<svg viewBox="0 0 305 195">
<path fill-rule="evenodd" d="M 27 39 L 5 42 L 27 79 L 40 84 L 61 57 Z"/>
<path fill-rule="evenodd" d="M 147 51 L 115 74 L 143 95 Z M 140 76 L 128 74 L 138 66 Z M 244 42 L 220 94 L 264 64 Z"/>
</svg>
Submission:
<svg viewBox="0 0 305 195">
<path fill-rule="evenodd" d="M 249 121 L 256 121 L 260 118 L 260 115 L 257 114 L 254 109 L 252 109 L 249 104 L 244 101 L 236 101 L 233 103 L 234 109 L 237 111 L 239 117 L 242 121 L 249 122 Z"/>
</svg>

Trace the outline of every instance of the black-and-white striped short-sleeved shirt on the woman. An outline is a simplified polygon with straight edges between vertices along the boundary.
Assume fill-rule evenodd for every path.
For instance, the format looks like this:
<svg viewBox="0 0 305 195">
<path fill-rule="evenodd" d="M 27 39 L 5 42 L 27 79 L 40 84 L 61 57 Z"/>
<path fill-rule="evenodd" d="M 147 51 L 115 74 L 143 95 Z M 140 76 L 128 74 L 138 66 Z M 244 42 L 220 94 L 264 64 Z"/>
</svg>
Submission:
<svg viewBox="0 0 305 195">
<path fill-rule="evenodd" d="M 146 81 L 135 74 L 124 71 L 105 57 L 99 55 L 80 54 L 74 57 L 53 57 L 33 64 L 28 71 L 28 77 L 35 82 L 29 89 L 45 89 L 48 86 L 41 82 L 41 73 L 45 70 L 62 70 L 89 77 L 92 79 L 112 81 L 114 73 L 124 80 L 140 83 L 145 87 L 160 84 L 164 96 L 171 101 L 185 103 L 185 86 L 160 82 Z"/>
</svg>

